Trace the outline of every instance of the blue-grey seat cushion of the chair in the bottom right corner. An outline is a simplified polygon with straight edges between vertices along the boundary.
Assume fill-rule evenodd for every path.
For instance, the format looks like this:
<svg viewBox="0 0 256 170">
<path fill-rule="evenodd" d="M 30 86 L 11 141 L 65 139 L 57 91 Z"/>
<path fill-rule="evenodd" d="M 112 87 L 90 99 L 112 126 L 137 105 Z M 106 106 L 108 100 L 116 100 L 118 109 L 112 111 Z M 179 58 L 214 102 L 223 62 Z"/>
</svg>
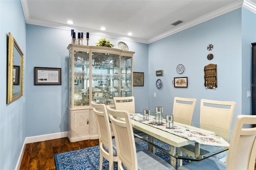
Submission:
<svg viewBox="0 0 256 170">
<path fill-rule="evenodd" d="M 226 170 L 226 164 L 210 157 L 201 161 L 189 162 L 184 166 L 178 167 L 178 170 Z"/>
</svg>

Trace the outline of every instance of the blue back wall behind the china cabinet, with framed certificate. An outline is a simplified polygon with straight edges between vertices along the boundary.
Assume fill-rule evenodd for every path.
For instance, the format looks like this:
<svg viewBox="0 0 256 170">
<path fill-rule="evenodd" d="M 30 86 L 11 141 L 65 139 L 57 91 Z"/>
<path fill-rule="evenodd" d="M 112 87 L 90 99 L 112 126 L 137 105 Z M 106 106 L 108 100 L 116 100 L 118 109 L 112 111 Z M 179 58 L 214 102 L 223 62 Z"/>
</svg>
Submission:
<svg viewBox="0 0 256 170">
<path fill-rule="evenodd" d="M 86 32 L 84 30 L 83 32 Z M 71 43 L 70 31 L 27 24 L 27 69 L 26 84 L 28 103 L 26 105 L 26 136 L 36 136 L 68 131 L 68 49 Z M 99 36 L 90 35 L 89 45 L 95 45 Z M 113 44 L 120 40 L 110 39 Z M 134 87 L 134 94 L 148 91 L 148 45 L 124 41 L 134 54 L 134 71 L 145 72 L 145 86 Z M 62 68 L 62 85 L 34 85 L 34 67 Z M 143 101 L 136 109 L 148 106 L 147 95 L 136 95 L 136 101 Z M 143 105 L 141 105 L 143 104 Z"/>
</svg>

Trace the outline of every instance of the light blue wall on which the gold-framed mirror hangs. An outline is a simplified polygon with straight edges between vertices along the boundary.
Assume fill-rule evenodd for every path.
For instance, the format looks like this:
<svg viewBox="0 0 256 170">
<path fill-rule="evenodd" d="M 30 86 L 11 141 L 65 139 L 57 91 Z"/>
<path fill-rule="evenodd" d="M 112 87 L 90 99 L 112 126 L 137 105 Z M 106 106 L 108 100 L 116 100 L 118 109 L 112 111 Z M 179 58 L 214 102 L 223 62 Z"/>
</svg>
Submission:
<svg viewBox="0 0 256 170">
<path fill-rule="evenodd" d="M 0 0 L 0 169 L 13 170 L 20 155 L 25 135 L 26 83 L 23 96 L 6 104 L 6 65 L 8 33 L 11 32 L 24 53 L 24 81 L 26 81 L 26 22 L 20 0 Z"/>
</svg>

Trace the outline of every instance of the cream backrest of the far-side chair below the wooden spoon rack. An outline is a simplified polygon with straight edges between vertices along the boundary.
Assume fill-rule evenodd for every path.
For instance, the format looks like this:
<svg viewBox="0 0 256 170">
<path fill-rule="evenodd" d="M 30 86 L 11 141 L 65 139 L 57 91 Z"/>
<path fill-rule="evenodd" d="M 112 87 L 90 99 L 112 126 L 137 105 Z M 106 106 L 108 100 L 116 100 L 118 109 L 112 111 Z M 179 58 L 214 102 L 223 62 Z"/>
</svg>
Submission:
<svg viewBox="0 0 256 170">
<path fill-rule="evenodd" d="M 200 124 L 230 129 L 236 102 L 201 99 Z"/>
</svg>

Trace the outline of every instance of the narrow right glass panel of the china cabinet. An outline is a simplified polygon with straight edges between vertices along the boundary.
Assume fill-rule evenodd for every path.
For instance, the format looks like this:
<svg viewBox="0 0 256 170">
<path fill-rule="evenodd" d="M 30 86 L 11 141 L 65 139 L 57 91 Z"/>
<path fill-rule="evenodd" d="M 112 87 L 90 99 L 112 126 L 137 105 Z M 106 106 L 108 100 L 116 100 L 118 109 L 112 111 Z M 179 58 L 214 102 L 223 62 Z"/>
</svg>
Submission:
<svg viewBox="0 0 256 170">
<path fill-rule="evenodd" d="M 121 56 L 121 97 L 132 96 L 132 57 Z"/>
</svg>

